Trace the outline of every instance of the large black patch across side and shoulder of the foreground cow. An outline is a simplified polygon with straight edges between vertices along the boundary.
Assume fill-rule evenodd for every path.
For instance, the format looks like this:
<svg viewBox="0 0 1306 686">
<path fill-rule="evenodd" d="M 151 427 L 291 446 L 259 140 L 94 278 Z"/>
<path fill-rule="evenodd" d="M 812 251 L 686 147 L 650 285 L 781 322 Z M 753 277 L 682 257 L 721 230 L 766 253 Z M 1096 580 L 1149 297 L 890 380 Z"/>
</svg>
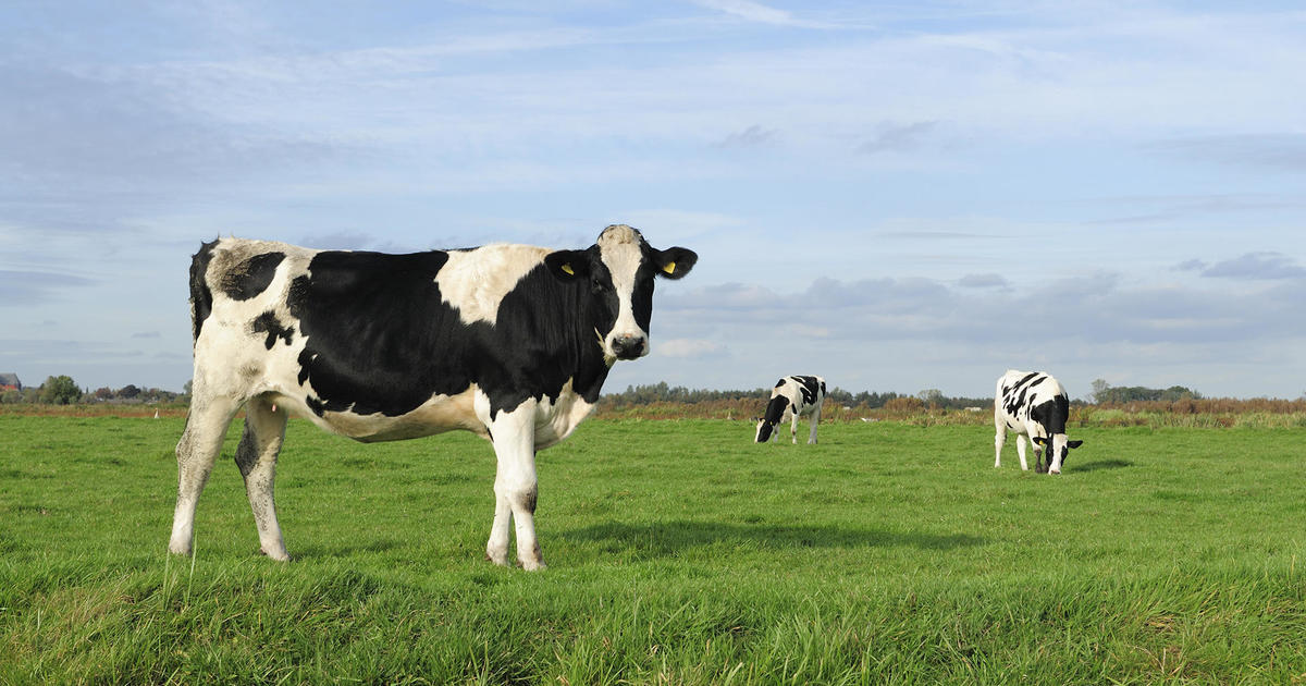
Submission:
<svg viewBox="0 0 1306 686">
<path fill-rule="evenodd" d="M 586 255 L 602 264 L 597 250 Z M 447 261 L 440 251 L 320 252 L 308 276 L 294 280 L 290 312 L 307 337 L 299 379 L 316 392 L 315 413 L 397 417 L 471 383 L 491 413 L 529 397 L 556 400 L 568 379 L 585 401 L 598 401 L 609 367 L 594 331 L 611 329 L 615 297 L 596 298 L 589 280 L 564 281 L 541 264 L 503 298 L 496 324 L 465 324 L 435 282 Z M 606 268 L 593 272 L 611 291 Z"/>
</svg>

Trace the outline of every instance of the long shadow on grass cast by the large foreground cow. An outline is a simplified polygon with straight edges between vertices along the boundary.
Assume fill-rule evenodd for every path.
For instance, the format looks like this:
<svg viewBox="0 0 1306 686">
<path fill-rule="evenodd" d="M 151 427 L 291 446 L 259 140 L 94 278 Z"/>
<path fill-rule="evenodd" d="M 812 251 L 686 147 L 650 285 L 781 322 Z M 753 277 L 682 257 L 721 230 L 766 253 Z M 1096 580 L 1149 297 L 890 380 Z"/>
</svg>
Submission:
<svg viewBox="0 0 1306 686">
<path fill-rule="evenodd" d="M 605 551 L 627 551 L 641 557 L 674 555 L 708 545 L 741 545 L 767 550 L 816 547 L 917 547 L 922 550 L 955 550 L 985 545 L 977 536 L 964 533 L 932 534 L 891 532 L 871 528 L 835 525 L 739 524 L 725 521 L 673 520 L 648 524 L 606 523 L 560 532 L 577 542 L 597 542 Z"/>
</svg>

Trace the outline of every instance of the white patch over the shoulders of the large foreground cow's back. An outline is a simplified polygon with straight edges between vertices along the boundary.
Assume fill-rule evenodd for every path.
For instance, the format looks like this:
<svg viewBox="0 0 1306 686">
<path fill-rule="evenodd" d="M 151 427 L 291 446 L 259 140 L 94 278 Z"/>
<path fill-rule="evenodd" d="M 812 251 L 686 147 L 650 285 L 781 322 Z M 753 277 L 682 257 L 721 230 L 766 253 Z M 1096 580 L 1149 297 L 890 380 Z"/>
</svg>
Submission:
<svg viewBox="0 0 1306 686">
<path fill-rule="evenodd" d="M 449 251 L 435 282 L 445 304 L 458 311 L 464 324 L 499 318 L 499 303 L 532 269 L 545 261 L 549 248 L 494 243 Z"/>
</svg>

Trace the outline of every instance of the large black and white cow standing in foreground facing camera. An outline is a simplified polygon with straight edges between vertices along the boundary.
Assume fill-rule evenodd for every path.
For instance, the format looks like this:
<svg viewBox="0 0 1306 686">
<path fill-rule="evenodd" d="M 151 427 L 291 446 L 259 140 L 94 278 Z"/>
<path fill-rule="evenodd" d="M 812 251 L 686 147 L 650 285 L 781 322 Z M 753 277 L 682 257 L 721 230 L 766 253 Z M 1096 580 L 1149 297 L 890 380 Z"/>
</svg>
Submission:
<svg viewBox="0 0 1306 686">
<path fill-rule="evenodd" d="M 236 412 L 235 461 L 263 551 L 289 559 L 273 477 L 289 416 L 360 442 L 462 429 L 498 459 L 486 554 L 545 566 L 535 540 L 535 451 L 572 433 L 618 359 L 648 354 L 654 277 L 680 278 L 693 251 L 654 250 L 609 226 L 586 250 L 533 246 L 411 255 L 205 243 L 191 264 L 195 378 L 176 447 L 172 553 Z"/>
</svg>

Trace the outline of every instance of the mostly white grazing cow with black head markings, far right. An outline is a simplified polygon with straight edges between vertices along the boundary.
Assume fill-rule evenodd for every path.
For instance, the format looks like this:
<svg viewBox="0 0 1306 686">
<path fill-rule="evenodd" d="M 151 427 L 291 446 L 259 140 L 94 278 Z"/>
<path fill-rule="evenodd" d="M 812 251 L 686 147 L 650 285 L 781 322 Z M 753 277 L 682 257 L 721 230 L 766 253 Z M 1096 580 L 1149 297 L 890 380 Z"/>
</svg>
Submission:
<svg viewBox="0 0 1306 686">
<path fill-rule="evenodd" d="M 1084 444 L 1083 440 L 1067 439 L 1067 418 L 1070 396 L 1057 379 L 1041 371 L 1007 370 L 998 379 L 993 396 L 993 423 L 998 431 L 993 439 L 993 465 L 1002 466 L 1002 447 L 1007 443 L 1007 431 L 1015 431 L 1021 469 L 1029 469 L 1025 463 L 1025 436 L 1029 436 L 1034 443 L 1034 472 L 1060 474 L 1070 449 Z M 1043 457 L 1047 459 L 1046 466 Z"/>
</svg>

